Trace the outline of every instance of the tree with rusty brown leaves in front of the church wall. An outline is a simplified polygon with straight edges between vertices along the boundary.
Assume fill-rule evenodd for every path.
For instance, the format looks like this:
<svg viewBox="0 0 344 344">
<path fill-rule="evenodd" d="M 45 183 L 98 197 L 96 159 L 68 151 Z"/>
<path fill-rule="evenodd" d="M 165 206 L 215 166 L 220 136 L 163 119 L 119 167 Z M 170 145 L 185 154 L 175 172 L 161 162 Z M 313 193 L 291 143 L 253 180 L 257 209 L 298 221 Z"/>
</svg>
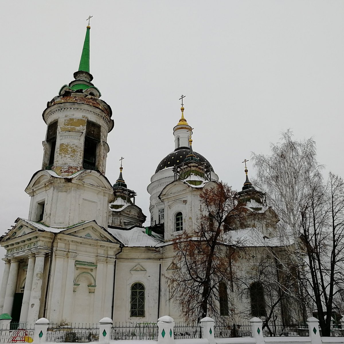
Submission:
<svg viewBox="0 0 344 344">
<path fill-rule="evenodd" d="M 244 207 L 237 203 L 236 191 L 222 182 L 205 189 L 200 203 L 197 228 L 186 229 L 173 240 L 173 262 L 179 268 L 166 278 L 171 298 L 179 305 L 184 319 L 199 321 L 212 316 L 221 321 L 219 302 L 227 302 L 221 311 L 228 314 L 227 287 L 233 283 L 232 262 L 239 245 L 225 233 L 224 224 L 228 218 L 239 218 Z"/>
</svg>

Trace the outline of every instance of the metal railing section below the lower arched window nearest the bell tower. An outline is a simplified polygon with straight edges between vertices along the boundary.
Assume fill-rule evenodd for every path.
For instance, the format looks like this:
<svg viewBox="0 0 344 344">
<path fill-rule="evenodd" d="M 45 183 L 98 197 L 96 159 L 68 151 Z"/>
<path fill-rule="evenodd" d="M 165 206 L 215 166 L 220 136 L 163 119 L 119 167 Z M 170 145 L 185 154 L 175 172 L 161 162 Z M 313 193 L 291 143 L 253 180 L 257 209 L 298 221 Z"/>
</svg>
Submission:
<svg viewBox="0 0 344 344">
<path fill-rule="evenodd" d="M 158 340 L 156 323 L 118 322 L 112 324 L 111 340 Z"/>
</svg>

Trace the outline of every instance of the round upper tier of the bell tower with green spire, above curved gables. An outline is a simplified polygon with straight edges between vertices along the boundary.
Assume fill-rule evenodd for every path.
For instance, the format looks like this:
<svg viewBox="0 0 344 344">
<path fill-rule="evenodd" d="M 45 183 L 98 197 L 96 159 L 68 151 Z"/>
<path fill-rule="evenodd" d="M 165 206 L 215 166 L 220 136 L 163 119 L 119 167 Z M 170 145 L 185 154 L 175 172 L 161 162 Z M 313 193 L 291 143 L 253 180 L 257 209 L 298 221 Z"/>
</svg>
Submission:
<svg viewBox="0 0 344 344">
<path fill-rule="evenodd" d="M 89 72 L 90 26 L 87 25 L 79 69 L 68 85 L 63 85 L 47 103 L 43 119 L 47 124 L 43 141 L 42 169 L 60 176 L 69 176 L 81 170 L 104 174 L 109 152 L 108 132 L 114 127 L 112 111 L 92 83 Z"/>
</svg>

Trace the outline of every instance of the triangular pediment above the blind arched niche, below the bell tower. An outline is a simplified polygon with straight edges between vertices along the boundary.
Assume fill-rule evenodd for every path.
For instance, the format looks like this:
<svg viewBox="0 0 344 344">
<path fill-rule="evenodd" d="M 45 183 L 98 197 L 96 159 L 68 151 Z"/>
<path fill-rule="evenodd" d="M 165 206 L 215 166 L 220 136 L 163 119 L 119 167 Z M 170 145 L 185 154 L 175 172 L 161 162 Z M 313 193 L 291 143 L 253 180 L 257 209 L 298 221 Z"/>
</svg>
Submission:
<svg viewBox="0 0 344 344">
<path fill-rule="evenodd" d="M 110 243 L 118 242 L 110 233 L 108 233 L 103 227 L 100 227 L 95 221 L 89 221 L 71 228 L 67 228 L 61 233 L 79 238 L 107 241 Z"/>
</svg>

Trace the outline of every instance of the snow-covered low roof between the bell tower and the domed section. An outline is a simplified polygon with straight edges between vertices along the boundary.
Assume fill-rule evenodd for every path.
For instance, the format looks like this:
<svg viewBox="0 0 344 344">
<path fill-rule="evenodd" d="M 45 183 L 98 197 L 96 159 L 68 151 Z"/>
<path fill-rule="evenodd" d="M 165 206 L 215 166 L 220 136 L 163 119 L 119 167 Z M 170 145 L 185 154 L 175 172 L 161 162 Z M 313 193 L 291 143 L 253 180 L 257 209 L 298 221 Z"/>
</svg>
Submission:
<svg viewBox="0 0 344 344">
<path fill-rule="evenodd" d="M 129 230 L 108 228 L 108 232 L 128 247 L 155 247 L 163 241 L 158 234 L 150 236 L 142 227 L 133 227 Z"/>
</svg>

